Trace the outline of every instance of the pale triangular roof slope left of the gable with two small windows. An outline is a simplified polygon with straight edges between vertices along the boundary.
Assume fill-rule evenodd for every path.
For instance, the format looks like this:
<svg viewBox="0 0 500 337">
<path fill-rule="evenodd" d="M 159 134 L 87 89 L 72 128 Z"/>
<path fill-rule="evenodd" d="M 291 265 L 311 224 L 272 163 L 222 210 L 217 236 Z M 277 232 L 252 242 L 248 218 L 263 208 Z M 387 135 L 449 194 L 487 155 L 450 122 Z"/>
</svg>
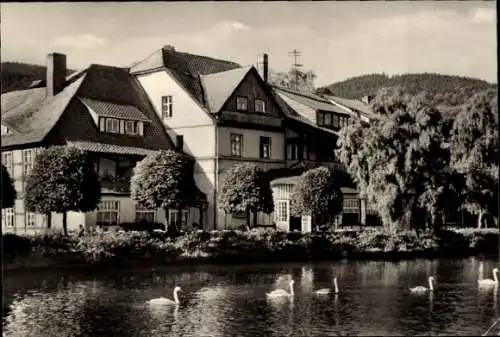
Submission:
<svg viewBox="0 0 500 337">
<path fill-rule="evenodd" d="M 208 110 L 217 113 L 229 99 L 236 87 L 252 69 L 252 66 L 237 68 L 209 75 L 200 75 Z"/>
</svg>

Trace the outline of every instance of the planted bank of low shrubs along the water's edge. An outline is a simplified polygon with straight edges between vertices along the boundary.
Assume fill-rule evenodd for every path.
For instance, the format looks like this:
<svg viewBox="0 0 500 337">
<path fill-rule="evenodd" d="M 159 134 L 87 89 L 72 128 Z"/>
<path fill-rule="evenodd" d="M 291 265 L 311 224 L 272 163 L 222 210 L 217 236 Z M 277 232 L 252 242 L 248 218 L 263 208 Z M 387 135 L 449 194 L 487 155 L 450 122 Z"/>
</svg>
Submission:
<svg viewBox="0 0 500 337">
<path fill-rule="evenodd" d="M 2 235 L 4 270 L 102 268 L 198 263 L 303 262 L 338 259 L 400 260 L 496 256 L 498 229 L 446 229 L 439 234 L 383 229 L 321 233 L 196 231 L 97 232 L 62 236 Z"/>
</svg>

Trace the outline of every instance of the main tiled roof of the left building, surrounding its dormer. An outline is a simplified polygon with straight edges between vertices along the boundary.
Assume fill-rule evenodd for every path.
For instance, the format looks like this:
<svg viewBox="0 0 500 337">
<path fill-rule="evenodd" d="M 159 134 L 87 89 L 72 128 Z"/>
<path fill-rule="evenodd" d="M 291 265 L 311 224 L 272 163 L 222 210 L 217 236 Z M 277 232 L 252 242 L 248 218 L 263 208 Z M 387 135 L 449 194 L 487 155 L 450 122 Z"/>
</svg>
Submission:
<svg viewBox="0 0 500 337">
<path fill-rule="evenodd" d="M 2 147 L 42 142 L 54 129 L 63 113 L 74 102 L 82 99 L 101 112 L 120 114 L 148 120 L 144 137 L 108 135 L 93 131 L 96 126 L 74 130 L 72 140 L 137 146 L 141 148 L 169 149 L 171 139 L 157 116 L 138 80 L 127 68 L 91 65 L 67 81 L 67 86 L 53 97 L 46 97 L 45 88 L 13 91 L 2 95 L 2 123 L 16 132 L 2 135 Z M 81 102 L 78 102 L 81 104 Z M 123 111 L 117 112 L 117 109 Z M 90 127 L 90 129 L 89 129 Z M 92 129 L 94 128 L 94 129 Z M 95 134 L 90 135 L 89 131 Z"/>
</svg>

